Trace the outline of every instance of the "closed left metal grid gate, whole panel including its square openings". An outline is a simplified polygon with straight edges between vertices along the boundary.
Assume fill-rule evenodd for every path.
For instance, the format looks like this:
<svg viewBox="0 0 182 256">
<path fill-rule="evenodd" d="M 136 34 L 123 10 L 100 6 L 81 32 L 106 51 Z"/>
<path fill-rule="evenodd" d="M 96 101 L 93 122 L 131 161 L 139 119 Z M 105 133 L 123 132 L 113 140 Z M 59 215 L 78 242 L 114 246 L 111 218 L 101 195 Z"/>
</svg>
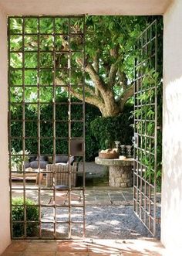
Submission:
<svg viewBox="0 0 182 256">
<path fill-rule="evenodd" d="M 8 17 L 12 238 L 85 235 L 84 30 L 83 15 Z"/>
</svg>

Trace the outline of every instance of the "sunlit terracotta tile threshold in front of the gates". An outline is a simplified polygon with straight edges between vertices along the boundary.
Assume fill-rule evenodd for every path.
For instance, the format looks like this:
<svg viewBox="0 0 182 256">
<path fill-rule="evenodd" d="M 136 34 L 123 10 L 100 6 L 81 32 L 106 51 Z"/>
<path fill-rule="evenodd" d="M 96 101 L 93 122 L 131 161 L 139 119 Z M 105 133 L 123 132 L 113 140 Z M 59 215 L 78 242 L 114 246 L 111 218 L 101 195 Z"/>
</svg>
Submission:
<svg viewBox="0 0 182 256">
<path fill-rule="evenodd" d="M 155 239 L 86 239 L 84 241 L 12 241 L 2 256 L 160 256 L 165 252 L 160 241 Z"/>
</svg>

